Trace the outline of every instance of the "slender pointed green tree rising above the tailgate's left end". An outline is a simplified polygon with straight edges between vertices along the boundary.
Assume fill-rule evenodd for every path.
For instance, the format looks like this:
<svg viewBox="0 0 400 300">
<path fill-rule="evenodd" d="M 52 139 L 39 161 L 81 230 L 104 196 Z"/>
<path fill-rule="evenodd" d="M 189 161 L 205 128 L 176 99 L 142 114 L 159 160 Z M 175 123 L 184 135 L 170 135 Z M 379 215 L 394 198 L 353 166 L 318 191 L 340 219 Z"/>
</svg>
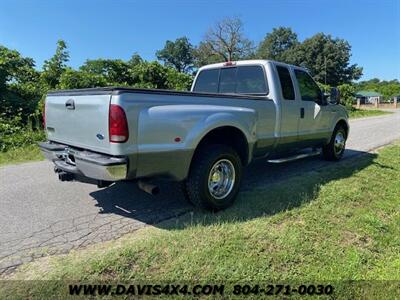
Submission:
<svg viewBox="0 0 400 300">
<path fill-rule="evenodd" d="M 57 87 L 62 73 L 66 70 L 68 60 L 67 44 L 63 40 L 58 40 L 56 53 L 52 58 L 44 62 L 41 74 L 43 81 L 49 88 L 54 89 Z"/>
</svg>

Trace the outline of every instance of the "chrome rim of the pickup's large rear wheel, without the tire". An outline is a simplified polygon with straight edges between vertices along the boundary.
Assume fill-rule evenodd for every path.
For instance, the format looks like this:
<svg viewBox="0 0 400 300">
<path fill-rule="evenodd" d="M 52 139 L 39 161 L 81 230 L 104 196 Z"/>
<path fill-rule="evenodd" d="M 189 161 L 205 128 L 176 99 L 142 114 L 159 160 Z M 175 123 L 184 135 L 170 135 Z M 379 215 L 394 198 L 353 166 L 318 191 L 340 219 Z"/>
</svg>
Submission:
<svg viewBox="0 0 400 300">
<path fill-rule="evenodd" d="M 235 184 L 236 172 L 232 162 L 220 159 L 210 170 L 208 175 L 208 191 L 215 199 L 222 199 L 229 195 Z"/>
</svg>

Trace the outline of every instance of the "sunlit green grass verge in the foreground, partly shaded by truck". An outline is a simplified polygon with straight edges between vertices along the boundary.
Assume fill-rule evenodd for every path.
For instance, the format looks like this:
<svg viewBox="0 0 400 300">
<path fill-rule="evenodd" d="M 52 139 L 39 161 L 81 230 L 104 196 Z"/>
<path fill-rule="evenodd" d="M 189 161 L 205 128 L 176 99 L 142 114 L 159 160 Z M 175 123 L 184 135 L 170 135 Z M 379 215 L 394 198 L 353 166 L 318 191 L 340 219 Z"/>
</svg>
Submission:
<svg viewBox="0 0 400 300">
<path fill-rule="evenodd" d="M 399 154 L 396 144 L 244 191 L 223 212 L 194 211 L 27 264 L 11 278 L 338 285 L 400 280 Z M 44 291 L 51 291 L 46 284 Z"/>
</svg>

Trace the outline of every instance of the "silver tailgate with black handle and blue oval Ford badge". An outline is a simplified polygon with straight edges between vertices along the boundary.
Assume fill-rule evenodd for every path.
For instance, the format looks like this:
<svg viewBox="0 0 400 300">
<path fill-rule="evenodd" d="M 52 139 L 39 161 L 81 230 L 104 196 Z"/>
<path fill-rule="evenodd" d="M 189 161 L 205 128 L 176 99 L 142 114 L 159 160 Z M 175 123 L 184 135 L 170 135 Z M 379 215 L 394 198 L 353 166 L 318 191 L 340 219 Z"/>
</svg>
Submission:
<svg viewBox="0 0 400 300">
<path fill-rule="evenodd" d="M 48 139 L 109 153 L 108 110 L 111 94 L 51 95 L 46 98 Z"/>
</svg>

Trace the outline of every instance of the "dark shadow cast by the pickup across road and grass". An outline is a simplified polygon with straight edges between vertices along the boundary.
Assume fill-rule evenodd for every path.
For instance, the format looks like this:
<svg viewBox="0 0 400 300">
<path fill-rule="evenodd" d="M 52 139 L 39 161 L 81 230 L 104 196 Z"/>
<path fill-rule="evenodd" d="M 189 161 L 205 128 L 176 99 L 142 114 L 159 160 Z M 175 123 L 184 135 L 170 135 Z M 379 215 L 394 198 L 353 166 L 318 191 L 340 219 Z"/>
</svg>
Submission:
<svg viewBox="0 0 400 300">
<path fill-rule="evenodd" d="M 90 195 L 102 214 L 117 214 L 165 229 L 185 228 L 194 223 L 238 222 L 313 201 L 324 184 L 351 177 L 371 164 L 390 168 L 375 163 L 376 157 L 374 153 L 347 150 L 346 158 L 340 162 L 326 162 L 320 157 L 279 165 L 256 162 L 246 169 L 235 204 L 218 213 L 195 209 L 175 183 L 160 182 L 161 192 L 157 196 L 143 192 L 132 182 L 115 183 Z M 177 218 L 181 215 L 184 216 Z M 172 221 L 162 222 L 169 219 Z"/>
</svg>

